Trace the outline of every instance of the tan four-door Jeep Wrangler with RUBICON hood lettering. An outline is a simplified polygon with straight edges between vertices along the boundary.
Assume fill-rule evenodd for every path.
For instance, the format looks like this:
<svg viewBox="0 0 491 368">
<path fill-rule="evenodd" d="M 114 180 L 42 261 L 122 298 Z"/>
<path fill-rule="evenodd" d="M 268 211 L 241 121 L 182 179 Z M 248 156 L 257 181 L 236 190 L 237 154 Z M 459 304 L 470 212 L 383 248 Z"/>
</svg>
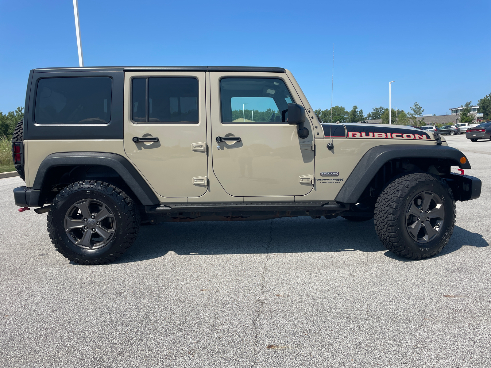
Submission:
<svg viewBox="0 0 491 368">
<path fill-rule="evenodd" d="M 49 211 L 78 263 L 115 260 L 140 224 L 295 216 L 374 219 L 387 249 L 427 258 L 481 191 L 438 133 L 322 124 L 282 68 L 34 69 L 25 106 L 15 203 Z"/>
</svg>

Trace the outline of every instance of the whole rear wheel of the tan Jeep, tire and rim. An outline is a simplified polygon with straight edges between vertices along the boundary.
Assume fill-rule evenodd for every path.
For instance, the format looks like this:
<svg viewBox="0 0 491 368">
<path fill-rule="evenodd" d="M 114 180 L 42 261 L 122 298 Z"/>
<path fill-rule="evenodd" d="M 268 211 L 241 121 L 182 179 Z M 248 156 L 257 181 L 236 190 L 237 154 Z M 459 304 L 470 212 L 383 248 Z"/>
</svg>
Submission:
<svg viewBox="0 0 491 368">
<path fill-rule="evenodd" d="M 98 181 L 81 181 L 62 189 L 48 213 L 48 233 L 70 261 L 104 264 L 133 244 L 140 215 L 121 189 Z"/>
</svg>

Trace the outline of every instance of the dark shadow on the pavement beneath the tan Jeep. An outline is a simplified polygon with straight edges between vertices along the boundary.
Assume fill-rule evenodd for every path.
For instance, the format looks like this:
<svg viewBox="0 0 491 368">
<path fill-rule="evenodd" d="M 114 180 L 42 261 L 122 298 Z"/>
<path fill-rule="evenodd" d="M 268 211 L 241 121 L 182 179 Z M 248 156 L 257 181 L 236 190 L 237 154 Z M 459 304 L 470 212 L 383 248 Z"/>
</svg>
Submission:
<svg viewBox="0 0 491 368">
<path fill-rule="evenodd" d="M 456 227 L 441 255 L 464 245 L 485 247 L 481 235 Z M 304 252 L 380 252 L 373 220 L 352 222 L 343 218 L 310 217 L 265 221 L 173 222 L 142 226 L 135 244 L 117 263 L 139 262 L 177 255 L 226 255 Z M 408 261 L 386 252 L 390 258 Z"/>
</svg>

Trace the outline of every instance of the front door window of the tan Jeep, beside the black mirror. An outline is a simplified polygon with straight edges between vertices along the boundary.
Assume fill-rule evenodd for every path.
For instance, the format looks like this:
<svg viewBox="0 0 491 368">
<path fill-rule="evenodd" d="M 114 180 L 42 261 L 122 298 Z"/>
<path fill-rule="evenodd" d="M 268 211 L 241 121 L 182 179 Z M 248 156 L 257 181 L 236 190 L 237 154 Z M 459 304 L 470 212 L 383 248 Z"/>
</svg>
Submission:
<svg viewBox="0 0 491 368">
<path fill-rule="evenodd" d="M 293 102 L 283 80 L 274 78 L 223 78 L 220 99 L 222 122 L 249 124 L 284 122 Z"/>
</svg>

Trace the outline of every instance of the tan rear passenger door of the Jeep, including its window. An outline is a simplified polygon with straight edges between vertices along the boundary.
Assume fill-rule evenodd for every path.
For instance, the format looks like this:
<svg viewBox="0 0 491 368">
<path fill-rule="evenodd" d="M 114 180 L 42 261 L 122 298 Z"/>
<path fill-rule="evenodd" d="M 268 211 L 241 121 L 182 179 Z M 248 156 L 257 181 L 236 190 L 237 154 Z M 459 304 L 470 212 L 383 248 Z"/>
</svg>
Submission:
<svg viewBox="0 0 491 368">
<path fill-rule="evenodd" d="M 126 72 L 124 121 L 125 152 L 159 195 L 206 192 L 204 72 Z"/>
</svg>

